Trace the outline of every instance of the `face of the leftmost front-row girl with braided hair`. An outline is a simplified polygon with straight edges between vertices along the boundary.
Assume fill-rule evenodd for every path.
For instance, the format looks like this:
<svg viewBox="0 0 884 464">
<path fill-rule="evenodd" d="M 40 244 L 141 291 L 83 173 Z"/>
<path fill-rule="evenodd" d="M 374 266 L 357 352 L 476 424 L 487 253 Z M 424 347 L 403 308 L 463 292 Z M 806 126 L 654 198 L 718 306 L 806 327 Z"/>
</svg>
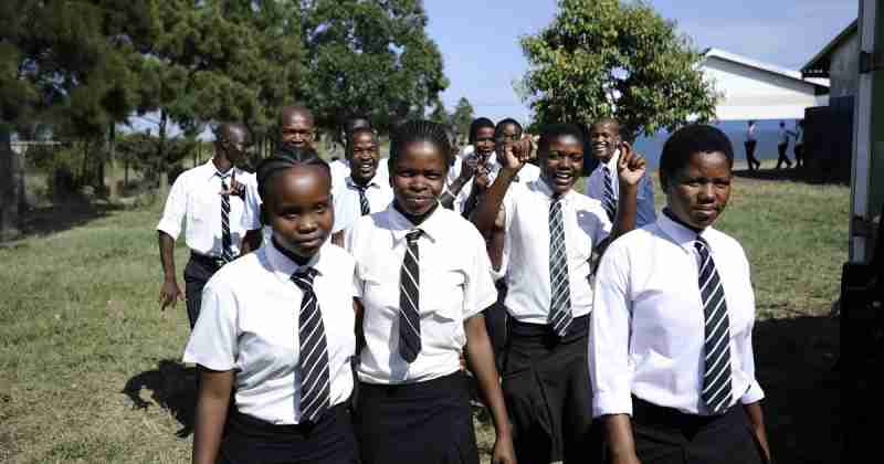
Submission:
<svg viewBox="0 0 884 464">
<path fill-rule="evenodd" d="M 272 198 L 262 208 L 282 246 L 301 257 L 319 251 L 335 222 L 330 189 L 328 172 L 318 166 L 296 166 L 273 178 Z"/>
</svg>

